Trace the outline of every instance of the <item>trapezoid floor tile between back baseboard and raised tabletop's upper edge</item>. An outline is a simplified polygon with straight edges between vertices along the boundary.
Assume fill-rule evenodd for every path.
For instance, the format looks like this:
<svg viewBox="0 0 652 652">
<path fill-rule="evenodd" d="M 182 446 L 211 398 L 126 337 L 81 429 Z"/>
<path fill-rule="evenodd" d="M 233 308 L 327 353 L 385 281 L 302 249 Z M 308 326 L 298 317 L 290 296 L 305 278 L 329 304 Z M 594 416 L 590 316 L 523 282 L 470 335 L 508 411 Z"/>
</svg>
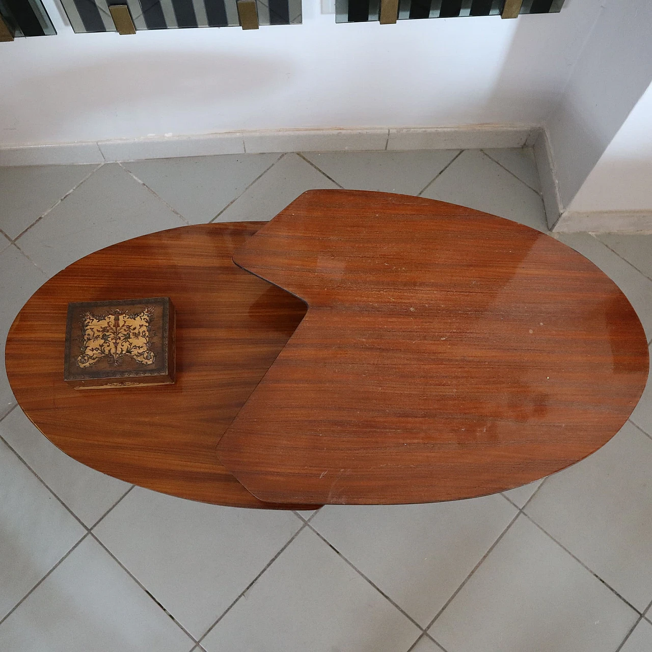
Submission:
<svg viewBox="0 0 652 652">
<path fill-rule="evenodd" d="M 416 195 L 457 155 L 457 149 L 411 152 L 325 152 L 304 156 L 347 190 Z"/>
</svg>

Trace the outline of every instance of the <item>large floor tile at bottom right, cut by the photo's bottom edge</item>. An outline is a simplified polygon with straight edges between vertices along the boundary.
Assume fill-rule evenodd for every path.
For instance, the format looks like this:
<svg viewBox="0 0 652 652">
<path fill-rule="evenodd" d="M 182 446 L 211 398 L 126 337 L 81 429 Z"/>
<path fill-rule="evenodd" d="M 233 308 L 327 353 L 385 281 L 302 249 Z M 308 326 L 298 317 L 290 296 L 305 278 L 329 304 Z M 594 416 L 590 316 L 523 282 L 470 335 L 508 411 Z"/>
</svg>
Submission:
<svg viewBox="0 0 652 652">
<path fill-rule="evenodd" d="M 519 516 L 429 631 L 448 652 L 614 652 L 636 617 Z"/>
</svg>

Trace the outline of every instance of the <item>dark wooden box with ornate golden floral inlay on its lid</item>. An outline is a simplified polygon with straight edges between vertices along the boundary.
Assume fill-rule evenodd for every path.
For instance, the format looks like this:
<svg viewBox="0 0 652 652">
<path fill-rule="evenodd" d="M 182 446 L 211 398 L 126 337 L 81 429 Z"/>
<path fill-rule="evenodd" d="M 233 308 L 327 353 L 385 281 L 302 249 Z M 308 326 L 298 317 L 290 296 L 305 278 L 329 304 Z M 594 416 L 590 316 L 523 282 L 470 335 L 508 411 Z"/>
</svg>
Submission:
<svg viewBox="0 0 652 652">
<path fill-rule="evenodd" d="M 74 389 L 173 383 L 174 331 L 168 297 L 69 303 L 63 379 Z"/>
</svg>

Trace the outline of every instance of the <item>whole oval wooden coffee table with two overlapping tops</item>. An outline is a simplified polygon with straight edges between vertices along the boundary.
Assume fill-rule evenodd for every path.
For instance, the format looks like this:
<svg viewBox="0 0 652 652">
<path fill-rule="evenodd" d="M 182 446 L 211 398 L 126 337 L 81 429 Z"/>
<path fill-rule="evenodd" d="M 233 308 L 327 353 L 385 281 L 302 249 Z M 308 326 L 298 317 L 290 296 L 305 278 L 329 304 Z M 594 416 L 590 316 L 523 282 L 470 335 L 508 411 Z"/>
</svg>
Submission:
<svg viewBox="0 0 652 652">
<path fill-rule="evenodd" d="M 68 302 L 155 296 L 177 309 L 175 385 L 70 389 Z M 262 228 L 91 254 L 35 293 L 7 341 L 20 406 L 72 457 L 274 509 L 540 479 L 614 436 L 647 370 L 629 301 L 571 248 L 464 207 L 344 190 L 306 192 Z"/>
</svg>

